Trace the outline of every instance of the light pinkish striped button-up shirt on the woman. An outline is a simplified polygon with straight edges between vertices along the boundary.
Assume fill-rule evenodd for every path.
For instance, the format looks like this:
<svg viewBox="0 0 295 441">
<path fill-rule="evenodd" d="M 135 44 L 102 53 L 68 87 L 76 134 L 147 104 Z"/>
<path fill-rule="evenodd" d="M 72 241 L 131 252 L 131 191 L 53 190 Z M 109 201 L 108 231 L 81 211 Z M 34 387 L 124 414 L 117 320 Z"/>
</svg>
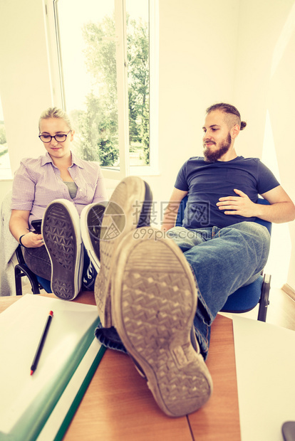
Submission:
<svg viewBox="0 0 295 441">
<path fill-rule="evenodd" d="M 36 159 L 22 159 L 14 176 L 11 209 L 30 211 L 31 223 L 34 219 L 41 219 L 48 203 L 55 199 L 73 202 L 79 215 L 89 203 L 107 200 L 103 175 L 97 162 L 84 161 L 72 152 L 68 171 L 78 187 L 73 199 L 48 152 Z"/>
</svg>

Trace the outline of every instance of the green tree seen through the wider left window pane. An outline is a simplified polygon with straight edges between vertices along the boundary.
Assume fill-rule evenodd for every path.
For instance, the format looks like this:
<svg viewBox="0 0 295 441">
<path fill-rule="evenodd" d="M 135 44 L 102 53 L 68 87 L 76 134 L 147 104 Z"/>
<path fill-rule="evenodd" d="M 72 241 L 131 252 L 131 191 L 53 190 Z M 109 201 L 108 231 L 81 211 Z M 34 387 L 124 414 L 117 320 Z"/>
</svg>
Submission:
<svg viewBox="0 0 295 441">
<path fill-rule="evenodd" d="M 105 17 L 102 23 L 83 26 L 86 68 L 98 89 L 98 97 L 88 95 L 86 105 L 90 109 L 90 121 L 84 121 L 84 139 L 92 139 L 86 149 L 93 149 L 102 166 L 112 166 L 119 156 L 118 149 L 118 100 L 115 66 L 115 23 Z M 93 112 L 94 110 L 94 112 Z M 86 127 L 90 124 L 90 127 Z M 91 132 L 91 134 L 90 134 Z"/>
</svg>

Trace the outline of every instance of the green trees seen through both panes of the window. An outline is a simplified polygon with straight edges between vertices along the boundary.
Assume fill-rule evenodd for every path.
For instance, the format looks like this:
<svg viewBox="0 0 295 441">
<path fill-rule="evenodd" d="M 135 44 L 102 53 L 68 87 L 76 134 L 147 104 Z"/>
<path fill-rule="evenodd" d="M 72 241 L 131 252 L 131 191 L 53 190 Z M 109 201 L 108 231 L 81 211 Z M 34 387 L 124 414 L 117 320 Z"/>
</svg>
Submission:
<svg viewBox="0 0 295 441">
<path fill-rule="evenodd" d="M 115 22 L 106 16 L 101 23 L 86 23 L 86 68 L 93 90 L 86 97 L 86 112 L 79 117 L 81 154 L 111 166 L 118 160 L 118 98 L 115 59 Z M 128 18 L 128 97 L 130 149 L 143 145 L 149 162 L 148 25 Z M 92 153 L 91 153 L 92 152 Z M 98 158 L 98 159 L 95 159 Z"/>
</svg>

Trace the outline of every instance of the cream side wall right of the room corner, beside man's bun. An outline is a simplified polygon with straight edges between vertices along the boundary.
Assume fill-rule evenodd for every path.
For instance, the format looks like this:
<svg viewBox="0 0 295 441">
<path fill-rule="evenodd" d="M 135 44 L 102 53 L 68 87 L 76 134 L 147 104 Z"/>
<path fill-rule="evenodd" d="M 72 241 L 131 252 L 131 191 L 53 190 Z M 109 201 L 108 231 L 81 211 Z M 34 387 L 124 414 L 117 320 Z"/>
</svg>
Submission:
<svg viewBox="0 0 295 441">
<path fill-rule="evenodd" d="M 240 4 L 234 102 L 248 127 L 239 136 L 239 153 L 261 158 L 295 201 L 295 1 Z M 271 272 L 295 289 L 295 223 L 273 229 Z"/>
</svg>

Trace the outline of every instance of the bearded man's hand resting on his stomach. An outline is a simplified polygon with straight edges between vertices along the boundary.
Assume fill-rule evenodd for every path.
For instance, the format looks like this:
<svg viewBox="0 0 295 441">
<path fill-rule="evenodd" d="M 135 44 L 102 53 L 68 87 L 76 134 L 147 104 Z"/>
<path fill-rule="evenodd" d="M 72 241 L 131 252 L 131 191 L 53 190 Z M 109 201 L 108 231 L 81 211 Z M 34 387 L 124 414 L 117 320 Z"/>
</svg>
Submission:
<svg viewBox="0 0 295 441">
<path fill-rule="evenodd" d="M 252 202 L 247 194 L 241 190 L 234 188 L 234 192 L 239 196 L 219 198 L 219 202 L 216 204 L 219 210 L 224 210 L 224 214 L 239 215 L 244 216 L 244 218 L 257 216 L 257 204 Z"/>
</svg>

